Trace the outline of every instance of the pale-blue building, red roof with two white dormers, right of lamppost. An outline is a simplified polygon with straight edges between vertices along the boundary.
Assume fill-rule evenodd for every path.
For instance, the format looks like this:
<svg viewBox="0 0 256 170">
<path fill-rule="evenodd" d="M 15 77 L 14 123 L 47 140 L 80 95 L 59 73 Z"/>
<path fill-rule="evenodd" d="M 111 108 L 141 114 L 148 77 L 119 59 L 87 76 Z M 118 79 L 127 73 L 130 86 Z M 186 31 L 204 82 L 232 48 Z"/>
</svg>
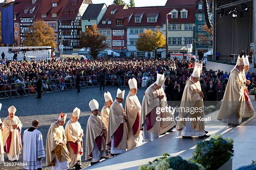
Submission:
<svg viewBox="0 0 256 170">
<path fill-rule="evenodd" d="M 166 35 L 166 15 L 168 15 L 168 51 L 179 53 L 184 46 L 193 45 L 195 51 L 195 12 L 197 0 L 167 0 L 163 13 L 163 33 Z"/>
</svg>

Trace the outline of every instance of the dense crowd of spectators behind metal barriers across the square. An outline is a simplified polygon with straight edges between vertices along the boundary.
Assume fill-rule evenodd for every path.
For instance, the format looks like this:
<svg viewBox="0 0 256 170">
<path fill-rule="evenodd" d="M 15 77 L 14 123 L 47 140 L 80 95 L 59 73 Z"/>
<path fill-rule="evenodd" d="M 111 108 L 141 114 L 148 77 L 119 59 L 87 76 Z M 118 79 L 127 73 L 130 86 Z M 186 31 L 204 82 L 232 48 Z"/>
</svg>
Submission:
<svg viewBox="0 0 256 170">
<path fill-rule="evenodd" d="M 35 88 L 38 75 L 43 80 L 43 86 L 51 86 L 53 91 L 57 88 L 73 88 L 72 83 L 76 82 L 78 74 L 81 87 L 88 86 L 84 82 L 99 85 L 99 75 L 102 74 L 105 75 L 105 85 L 128 86 L 128 80 L 135 77 L 139 87 L 148 87 L 156 80 L 158 72 L 167 77 L 164 88 L 168 100 L 181 100 L 185 82 L 193 72 L 192 65 L 193 62 L 187 60 L 151 60 L 138 57 L 6 62 L 1 60 L 0 90 L 10 90 L 11 87 L 17 95 L 26 92 L 24 88 L 31 92 Z M 200 82 L 202 91 L 205 90 L 205 100 L 221 100 L 228 77 L 228 72 L 203 69 Z M 248 87 L 250 90 L 255 86 L 255 74 L 248 73 L 246 77 L 252 82 Z"/>
</svg>

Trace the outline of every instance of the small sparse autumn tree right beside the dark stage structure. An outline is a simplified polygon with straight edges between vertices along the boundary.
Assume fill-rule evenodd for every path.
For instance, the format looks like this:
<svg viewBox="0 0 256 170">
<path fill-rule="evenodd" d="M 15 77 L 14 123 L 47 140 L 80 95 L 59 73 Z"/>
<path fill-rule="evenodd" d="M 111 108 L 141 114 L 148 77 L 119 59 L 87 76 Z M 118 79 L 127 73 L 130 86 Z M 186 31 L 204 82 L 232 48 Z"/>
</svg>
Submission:
<svg viewBox="0 0 256 170">
<path fill-rule="evenodd" d="M 207 25 L 205 24 L 202 27 L 202 30 L 204 32 L 197 33 L 197 40 L 195 40 L 195 42 L 197 42 L 198 44 L 206 44 L 206 45 L 212 47 L 212 37 L 213 37 L 212 28 L 208 28 Z"/>
</svg>

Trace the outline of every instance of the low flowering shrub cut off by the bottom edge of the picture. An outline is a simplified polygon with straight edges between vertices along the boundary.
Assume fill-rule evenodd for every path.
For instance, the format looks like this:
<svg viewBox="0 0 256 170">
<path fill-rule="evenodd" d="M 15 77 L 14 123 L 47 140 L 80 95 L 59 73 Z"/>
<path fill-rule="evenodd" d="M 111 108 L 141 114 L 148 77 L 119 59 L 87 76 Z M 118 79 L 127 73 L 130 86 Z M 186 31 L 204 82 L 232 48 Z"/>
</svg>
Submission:
<svg viewBox="0 0 256 170">
<path fill-rule="evenodd" d="M 205 168 L 192 161 L 187 161 L 179 156 L 170 157 L 163 154 L 161 158 L 149 162 L 149 165 L 141 165 L 139 170 L 205 170 Z"/>
</svg>

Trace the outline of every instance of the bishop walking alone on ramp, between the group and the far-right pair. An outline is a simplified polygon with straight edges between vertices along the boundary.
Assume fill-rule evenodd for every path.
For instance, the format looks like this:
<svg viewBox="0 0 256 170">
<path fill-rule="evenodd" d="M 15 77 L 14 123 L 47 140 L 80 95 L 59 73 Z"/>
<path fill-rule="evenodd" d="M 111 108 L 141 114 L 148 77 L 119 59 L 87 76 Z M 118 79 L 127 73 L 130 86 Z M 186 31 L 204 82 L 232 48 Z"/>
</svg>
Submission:
<svg viewBox="0 0 256 170">
<path fill-rule="evenodd" d="M 187 80 L 179 107 L 179 120 L 176 130 L 182 138 L 192 139 L 192 136 L 208 138 L 205 134 L 205 122 L 198 117 L 204 116 L 203 92 L 198 86 L 201 68 L 195 67 L 189 80 Z M 186 120 L 186 119 L 194 120 Z"/>
</svg>

